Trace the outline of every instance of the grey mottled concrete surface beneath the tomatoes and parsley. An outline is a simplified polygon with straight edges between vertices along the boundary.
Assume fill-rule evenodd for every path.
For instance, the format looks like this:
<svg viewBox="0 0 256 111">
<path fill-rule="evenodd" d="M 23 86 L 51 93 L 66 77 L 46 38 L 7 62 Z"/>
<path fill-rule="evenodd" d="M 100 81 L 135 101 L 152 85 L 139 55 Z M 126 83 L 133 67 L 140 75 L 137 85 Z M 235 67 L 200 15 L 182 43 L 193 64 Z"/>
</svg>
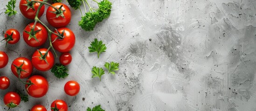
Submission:
<svg viewBox="0 0 256 111">
<path fill-rule="evenodd" d="M 49 110 L 55 99 L 65 100 L 69 111 L 98 104 L 106 111 L 256 110 L 256 0 L 111 1 L 111 17 L 91 32 L 81 30 L 80 12 L 72 9 L 68 27 L 75 32 L 76 46 L 69 77 L 56 79 L 50 72 L 34 70 L 33 74 L 47 78 L 47 95 L 29 97 L 13 111 L 28 111 L 35 104 Z M 15 17 L 7 17 L 6 4 L 7 0 L 0 0 L 1 38 L 2 31 L 15 28 L 22 33 L 33 22 L 18 8 Z M 41 20 L 47 23 L 45 14 Z M 94 38 L 108 48 L 100 59 L 88 51 Z M 8 48 L 4 44 L 0 43 L 0 50 L 7 52 L 9 63 L 0 75 L 10 78 L 11 87 L 0 91 L 0 111 L 5 111 L 5 93 L 24 89 L 10 71 L 11 62 L 19 56 L 31 59 L 38 49 L 28 47 L 22 38 Z M 110 61 L 120 63 L 118 74 L 105 74 L 102 81 L 91 78 L 93 66 Z M 76 97 L 63 92 L 68 80 L 81 84 Z"/>
</svg>

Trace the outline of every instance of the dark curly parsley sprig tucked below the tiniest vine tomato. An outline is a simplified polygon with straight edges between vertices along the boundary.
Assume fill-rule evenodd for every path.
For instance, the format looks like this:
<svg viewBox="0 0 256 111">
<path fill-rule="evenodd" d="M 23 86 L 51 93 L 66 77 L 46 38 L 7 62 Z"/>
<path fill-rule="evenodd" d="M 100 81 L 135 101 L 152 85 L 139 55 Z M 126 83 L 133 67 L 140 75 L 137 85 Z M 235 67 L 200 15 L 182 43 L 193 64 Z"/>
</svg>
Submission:
<svg viewBox="0 0 256 111">
<path fill-rule="evenodd" d="M 59 79 L 67 77 L 69 75 L 68 71 L 68 68 L 61 64 L 55 64 L 51 69 L 51 72 L 54 73 L 54 75 Z"/>
</svg>

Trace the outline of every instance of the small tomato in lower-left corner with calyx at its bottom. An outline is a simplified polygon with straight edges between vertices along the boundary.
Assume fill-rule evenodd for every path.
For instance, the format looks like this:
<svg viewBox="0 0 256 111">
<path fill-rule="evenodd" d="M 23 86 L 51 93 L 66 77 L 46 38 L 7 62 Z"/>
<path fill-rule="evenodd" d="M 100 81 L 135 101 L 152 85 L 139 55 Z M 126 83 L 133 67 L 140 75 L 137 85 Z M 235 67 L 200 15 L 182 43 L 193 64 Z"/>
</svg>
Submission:
<svg viewBox="0 0 256 111">
<path fill-rule="evenodd" d="M 9 92 L 4 96 L 4 103 L 9 108 L 14 108 L 21 103 L 21 97 L 18 93 Z"/>
</svg>

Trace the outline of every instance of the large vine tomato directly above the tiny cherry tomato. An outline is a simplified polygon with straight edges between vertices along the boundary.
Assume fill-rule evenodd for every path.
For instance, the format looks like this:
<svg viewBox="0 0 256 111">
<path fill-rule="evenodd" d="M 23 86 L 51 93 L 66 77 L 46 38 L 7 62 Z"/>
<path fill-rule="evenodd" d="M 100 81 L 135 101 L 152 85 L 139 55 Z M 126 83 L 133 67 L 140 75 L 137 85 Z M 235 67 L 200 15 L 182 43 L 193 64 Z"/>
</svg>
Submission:
<svg viewBox="0 0 256 111">
<path fill-rule="evenodd" d="M 55 34 L 51 35 L 51 39 L 53 42 L 52 45 L 54 49 L 62 53 L 69 52 L 75 45 L 75 42 L 76 42 L 75 34 L 69 28 L 59 28 L 58 31 L 60 33 L 64 31 L 64 34 L 62 36 L 64 38 L 59 38 Z M 54 32 L 57 33 L 57 31 L 54 31 Z M 57 39 L 55 40 L 55 38 Z"/>
</svg>

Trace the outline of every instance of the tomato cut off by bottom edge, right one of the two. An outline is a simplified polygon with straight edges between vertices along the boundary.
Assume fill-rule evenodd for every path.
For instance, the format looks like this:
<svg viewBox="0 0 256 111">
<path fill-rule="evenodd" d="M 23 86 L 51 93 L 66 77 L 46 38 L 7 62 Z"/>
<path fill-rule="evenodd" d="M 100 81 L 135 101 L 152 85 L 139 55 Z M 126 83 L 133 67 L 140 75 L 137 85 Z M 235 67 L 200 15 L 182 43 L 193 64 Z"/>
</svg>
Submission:
<svg viewBox="0 0 256 111">
<path fill-rule="evenodd" d="M 51 104 L 51 111 L 68 111 L 68 105 L 63 100 L 55 100 Z"/>
</svg>

